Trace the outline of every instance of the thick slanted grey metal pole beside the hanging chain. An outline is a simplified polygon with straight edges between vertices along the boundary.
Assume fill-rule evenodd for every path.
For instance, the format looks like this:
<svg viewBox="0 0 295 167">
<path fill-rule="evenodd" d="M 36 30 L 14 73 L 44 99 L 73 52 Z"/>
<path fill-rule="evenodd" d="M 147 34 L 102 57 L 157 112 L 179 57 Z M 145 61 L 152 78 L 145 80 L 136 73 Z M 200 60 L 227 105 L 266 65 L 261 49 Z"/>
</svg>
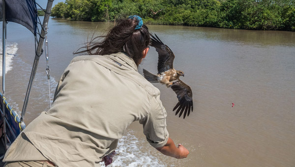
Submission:
<svg viewBox="0 0 295 167">
<path fill-rule="evenodd" d="M 22 110 L 21 122 L 23 122 L 23 118 L 24 118 L 25 113 L 26 113 L 26 109 L 27 109 L 27 105 L 28 105 L 28 101 L 29 101 L 29 92 L 30 92 L 30 89 L 32 87 L 32 83 L 33 83 L 33 80 L 34 80 L 34 77 L 35 77 L 35 74 L 36 74 L 36 70 L 37 70 L 38 63 L 39 63 L 39 58 L 41 56 L 42 45 L 43 45 L 43 41 L 44 41 L 44 37 L 45 37 L 44 28 L 45 28 L 45 25 L 48 23 L 48 20 L 49 20 L 52 3 L 53 3 L 53 0 L 48 0 L 48 2 L 47 2 L 45 16 L 44 16 L 43 25 L 42 25 L 43 28 L 41 30 L 41 34 L 40 34 L 40 37 L 39 37 L 39 42 L 38 42 L 38 46 L 37 46 L 35 60 L 34 60 L 31 75 L 30 75 L 30 78 L 29 78 L 29 85 L 28 85 L 28 89 L 27 89 L 27 93 L 26 93 L 26 98 L 25 98 L 25 101 L 24 101 L 23 110 Z"/>
</svg>

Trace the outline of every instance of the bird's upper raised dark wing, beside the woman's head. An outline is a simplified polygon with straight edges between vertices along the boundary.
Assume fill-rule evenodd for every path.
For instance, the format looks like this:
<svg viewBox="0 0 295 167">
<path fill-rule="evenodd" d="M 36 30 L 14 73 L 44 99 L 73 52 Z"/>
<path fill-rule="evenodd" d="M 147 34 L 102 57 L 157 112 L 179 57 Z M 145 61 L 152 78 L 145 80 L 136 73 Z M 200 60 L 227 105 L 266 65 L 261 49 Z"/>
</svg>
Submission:
<svg viewBox="0 0 295 167">
<path fill-rule="evenodd" d="M 156 51 L 158 52 L 158 74 L 161 72 L 167 71 L 170 68 L 173 68 L 173 61 L 175 58 L 175 55 L 171 51 L 171 49 L 165 45 L 159 37 L 155 34 L 156 37 L 154 37 L 152 34 L 151 36 L 151 45 L 152 47 L 156 48 Z"/>
</svg>

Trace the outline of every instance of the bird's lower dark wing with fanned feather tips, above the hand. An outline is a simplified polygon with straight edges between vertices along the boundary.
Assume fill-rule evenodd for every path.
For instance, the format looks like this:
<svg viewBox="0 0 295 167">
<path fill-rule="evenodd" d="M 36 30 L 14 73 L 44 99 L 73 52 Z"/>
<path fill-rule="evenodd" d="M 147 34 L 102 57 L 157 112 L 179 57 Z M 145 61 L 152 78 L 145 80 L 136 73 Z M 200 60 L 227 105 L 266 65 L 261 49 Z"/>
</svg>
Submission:
<svg viewBox="0 0 295 167">
<path fill-rule="evenodd" d="M 193 112 L 193 92 L 192 92 L 192 89 L 179 79 L 173 81 L 171 88 L 177 94 L 177 99 L 178 99 L 178 103 L 173 108 L 173 111 L 178 108 L 175 115 L 177 115 L 178 112 L 180 111 L 179 117 L 181 116 L 181 114 L 184 111 L 184 114 L 183 114 L 183 119 L 184 119 L 186 114 L 187 114 L 187 116 L 189 116 L 190 111 Z"/>
</svg>

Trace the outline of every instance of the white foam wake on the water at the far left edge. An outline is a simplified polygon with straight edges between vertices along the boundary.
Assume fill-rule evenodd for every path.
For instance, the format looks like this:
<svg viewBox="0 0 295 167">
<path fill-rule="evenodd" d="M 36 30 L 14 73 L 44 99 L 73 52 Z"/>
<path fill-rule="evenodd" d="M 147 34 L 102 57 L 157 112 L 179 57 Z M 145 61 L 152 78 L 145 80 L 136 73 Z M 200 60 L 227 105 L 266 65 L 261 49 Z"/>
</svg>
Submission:
<svg viewBox="0 0 295 167">
<path fill-rule="evenodd" d="M 14 57 L 14 55 L 16 54 L 18 47 L 17 47 L 17 43 L 7 43 L 6 44 L 6 61 L 5 61 L 5 74 L 12 69 L 12 58 Z M 2 55 L 2 42 L 0 43 L 0 54 Z M 2 76 L 2 57 L 0 57 L 0 76 Z"/>
</svg>

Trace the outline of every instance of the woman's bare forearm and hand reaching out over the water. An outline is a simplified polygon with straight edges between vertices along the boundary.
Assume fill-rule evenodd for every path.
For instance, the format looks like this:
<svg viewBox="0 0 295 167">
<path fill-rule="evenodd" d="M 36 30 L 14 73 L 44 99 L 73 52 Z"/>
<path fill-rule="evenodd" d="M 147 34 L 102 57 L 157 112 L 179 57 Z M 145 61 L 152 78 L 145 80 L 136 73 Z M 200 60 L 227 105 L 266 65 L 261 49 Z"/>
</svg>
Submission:
<svg viewBox="0 0 295 167">
<path fill-rule="evenodd" d="M 158 147 L 156 149 L 164 155 L 174 157 L 177 159 L 186 158 L 189 154 L 188 150 L 183 145 L 179 144 L 177 148 L 170 137 L 168 138 L 167 143 L 163 147 Z"/>
</svg>

